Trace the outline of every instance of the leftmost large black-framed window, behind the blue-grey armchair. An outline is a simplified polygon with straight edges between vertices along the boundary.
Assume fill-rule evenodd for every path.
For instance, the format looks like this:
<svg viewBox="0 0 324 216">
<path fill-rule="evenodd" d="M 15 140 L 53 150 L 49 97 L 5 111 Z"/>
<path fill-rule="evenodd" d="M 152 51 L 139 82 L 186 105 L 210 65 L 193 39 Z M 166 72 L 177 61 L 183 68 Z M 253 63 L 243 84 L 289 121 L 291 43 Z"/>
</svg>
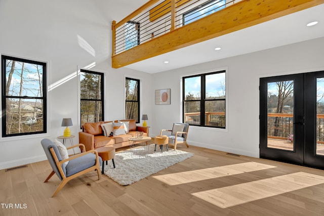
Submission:
<svg viewBox="0 0 324 216">
<path fill-rule="evenodd" d="M 46 133 L 46 63 L 2 56 L 2 137 Z"/>
</svg>

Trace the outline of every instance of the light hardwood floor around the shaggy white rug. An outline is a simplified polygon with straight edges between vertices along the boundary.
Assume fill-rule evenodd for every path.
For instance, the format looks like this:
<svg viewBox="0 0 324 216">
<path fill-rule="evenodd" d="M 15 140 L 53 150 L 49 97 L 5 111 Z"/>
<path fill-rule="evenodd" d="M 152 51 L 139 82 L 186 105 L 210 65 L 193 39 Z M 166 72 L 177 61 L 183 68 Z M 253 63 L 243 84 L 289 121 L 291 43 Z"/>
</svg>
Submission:
<svg viewBox="0 0 324 216">
<path fill-rule="evenodd" d="M 90 172 L 54 198 L 48 161 L 0 170 L 0 215 L 324 215 L 324 170 L 178 149 L 195 155 L 129 186 Z"/>
</svg>

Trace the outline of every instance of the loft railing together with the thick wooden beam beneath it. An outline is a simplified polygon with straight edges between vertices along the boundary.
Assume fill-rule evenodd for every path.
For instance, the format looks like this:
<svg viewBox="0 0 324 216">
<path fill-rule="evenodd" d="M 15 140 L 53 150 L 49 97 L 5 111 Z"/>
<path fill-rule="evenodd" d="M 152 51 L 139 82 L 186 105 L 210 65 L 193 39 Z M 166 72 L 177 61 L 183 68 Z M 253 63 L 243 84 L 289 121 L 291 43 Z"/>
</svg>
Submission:
<svg viewBox="0 0 324 216">
<path fill-rule="evenodd" d="M 220 5 L 212 9 L 209 4 L 214 3 Z M 123 20 L 112 22 L 111 67 L 130 65 L 323 3 L 324 0 L 150 0 Z M 200 10 L 206 8 L 207 11 Z M 203 16 L 192 15 L 192 10 Z"/>
</svg>

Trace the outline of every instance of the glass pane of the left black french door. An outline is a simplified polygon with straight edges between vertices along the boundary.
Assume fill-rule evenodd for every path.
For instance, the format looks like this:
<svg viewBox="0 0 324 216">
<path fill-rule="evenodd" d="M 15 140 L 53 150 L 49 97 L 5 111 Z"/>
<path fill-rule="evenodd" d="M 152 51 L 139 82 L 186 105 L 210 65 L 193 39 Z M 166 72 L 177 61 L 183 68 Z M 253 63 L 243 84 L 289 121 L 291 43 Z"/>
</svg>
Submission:
<svg viewBox="0 0 324 216">
<path fill-rule="evenodd" d="M 294 151 L 294 80 L 267 83 L 267 147 Z"/>
</svg>

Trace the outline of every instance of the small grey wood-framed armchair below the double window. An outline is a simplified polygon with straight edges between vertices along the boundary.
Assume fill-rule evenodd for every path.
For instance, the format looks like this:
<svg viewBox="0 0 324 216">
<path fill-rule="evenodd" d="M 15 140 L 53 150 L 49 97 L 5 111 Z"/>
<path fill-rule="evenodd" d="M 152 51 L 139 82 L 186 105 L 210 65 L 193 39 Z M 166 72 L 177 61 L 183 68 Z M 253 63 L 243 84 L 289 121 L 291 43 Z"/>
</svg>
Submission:
<svg viewBox="0 0 324 216">
<path fill-rule="evenodd" d="M 182 129 L 183 128 L 183 129 Z M 189 147 L 187 143 L 189 124 L 187 123 L 173 123 L 172 130 L 161 129 L 160 136 L 167 136 L 169 138 L 168 145 L 174 146 L 174 150 L 177 149 L 178 144 L 185 144 Z M 166 132 L 171 132 L 167 134 Z"/>
</svg>

